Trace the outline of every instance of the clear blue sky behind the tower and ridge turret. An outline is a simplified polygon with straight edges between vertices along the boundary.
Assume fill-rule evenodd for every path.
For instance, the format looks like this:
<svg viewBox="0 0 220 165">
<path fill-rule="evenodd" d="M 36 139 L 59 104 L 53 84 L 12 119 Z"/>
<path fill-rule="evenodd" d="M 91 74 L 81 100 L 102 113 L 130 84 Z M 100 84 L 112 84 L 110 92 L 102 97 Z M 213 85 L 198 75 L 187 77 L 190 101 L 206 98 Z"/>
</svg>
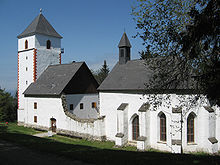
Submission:
<svg viewBox="0 0 220 165">
<path fill-rule="evenodd" d="M 135 0 L 0 0 L 0 87 L 17 88 L 17 35 L 39 14 L 63 36 L 62 63 L 85 61 L 97 70 L 104 60 L 112 68 L 124 29 L 132 44 L 132 59 L 143 49 L 136 34 L 131 6 Z"/>
</svg>

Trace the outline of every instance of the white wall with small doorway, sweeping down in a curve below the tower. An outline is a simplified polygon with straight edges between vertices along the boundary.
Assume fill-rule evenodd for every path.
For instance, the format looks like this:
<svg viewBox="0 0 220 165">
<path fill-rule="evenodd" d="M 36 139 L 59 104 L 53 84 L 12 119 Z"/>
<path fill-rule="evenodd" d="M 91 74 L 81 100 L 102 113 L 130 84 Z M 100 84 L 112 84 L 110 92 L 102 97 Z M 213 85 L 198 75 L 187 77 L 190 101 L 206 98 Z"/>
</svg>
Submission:
<svg viewBox="0 0 220 165">
<path fill-rule="evenodd" d="M 37 103 L 37 109 L 34 109 Z M 41 127 L 46 130 L 50 127 L 50 119 L 56 119 L 57 132 L 71 134 L 79 137 L 104 136 L 104 120 L 97 119 L 93 122 L 74 120 L 64 113 L 61 98 L 25 97 L 25 125 Z M 37 116 L 37 122 L 34 122 Z"/>
</svg>

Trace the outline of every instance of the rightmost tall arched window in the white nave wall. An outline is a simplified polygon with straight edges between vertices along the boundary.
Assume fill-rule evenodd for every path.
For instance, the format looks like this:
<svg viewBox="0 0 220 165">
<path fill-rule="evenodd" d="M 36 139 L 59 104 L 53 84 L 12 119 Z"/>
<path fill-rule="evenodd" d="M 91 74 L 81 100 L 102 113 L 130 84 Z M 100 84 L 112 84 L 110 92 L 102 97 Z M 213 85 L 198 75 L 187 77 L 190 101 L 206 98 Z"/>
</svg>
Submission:
<svg viewBox="0 0 220 165">
<path fill-rule="evenodd" d="M 194 142 L 194 119 L 195 115 L 190 113 L 187 118 L 187 143 Z"/>
</svg>

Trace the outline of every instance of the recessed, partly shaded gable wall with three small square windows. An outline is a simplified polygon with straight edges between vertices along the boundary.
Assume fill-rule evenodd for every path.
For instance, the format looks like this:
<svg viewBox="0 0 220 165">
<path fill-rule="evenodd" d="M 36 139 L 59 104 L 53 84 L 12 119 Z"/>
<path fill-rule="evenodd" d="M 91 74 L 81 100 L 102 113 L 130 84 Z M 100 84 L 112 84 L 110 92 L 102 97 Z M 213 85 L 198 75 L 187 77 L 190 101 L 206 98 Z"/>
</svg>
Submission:
<svg viewBox="0 0 220 165">
<path fill-rule="evenodd" d="M 97 118 L 99 115 L 98 107 L 92 108 L 94 102 L 98 105 L 98 94 L 73 94 L 66 95 L 68 110 L 81 119 Z M 73 104 L 73 110 L 70 110 L 70 104 Z M 83 109 L 80 109 L 83 104 Z"/>
</svg>

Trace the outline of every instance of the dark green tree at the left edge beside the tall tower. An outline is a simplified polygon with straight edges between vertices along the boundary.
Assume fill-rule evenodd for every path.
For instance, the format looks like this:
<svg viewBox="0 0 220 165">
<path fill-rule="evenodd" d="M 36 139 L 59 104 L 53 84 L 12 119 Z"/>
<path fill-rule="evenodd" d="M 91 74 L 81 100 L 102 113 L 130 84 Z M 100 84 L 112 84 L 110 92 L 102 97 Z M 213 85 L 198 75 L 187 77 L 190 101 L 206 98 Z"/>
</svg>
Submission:
<svg viewBox="0 0 220 165">
<path fill-rule="evenodd" d="M 15 121 L 17 100 L 10 93 L 0 88 L 0 121 Z"/>
</svg>

